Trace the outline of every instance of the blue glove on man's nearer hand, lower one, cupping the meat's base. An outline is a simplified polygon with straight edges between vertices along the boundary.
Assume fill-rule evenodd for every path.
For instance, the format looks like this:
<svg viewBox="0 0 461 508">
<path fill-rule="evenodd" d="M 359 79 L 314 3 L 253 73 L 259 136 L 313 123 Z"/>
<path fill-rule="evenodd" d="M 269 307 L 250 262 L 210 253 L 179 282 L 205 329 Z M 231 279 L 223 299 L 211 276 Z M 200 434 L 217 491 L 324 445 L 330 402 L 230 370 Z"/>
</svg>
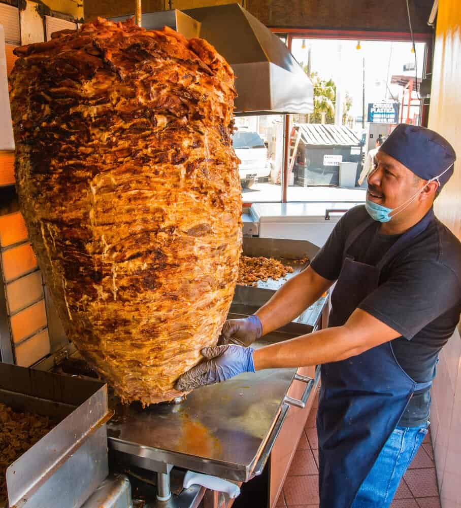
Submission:
<svg viewBox="0 0 461 508">
<path fill-rule="evenodd" d="M 252 347 L 235 344 L 204 347 L 201 354 L 206 360 L 180 376 L 175 389 L 188 392 L 199 386 L 221 383 L 242 372 L 254 372 L 253 353 Z"/>
</svg>

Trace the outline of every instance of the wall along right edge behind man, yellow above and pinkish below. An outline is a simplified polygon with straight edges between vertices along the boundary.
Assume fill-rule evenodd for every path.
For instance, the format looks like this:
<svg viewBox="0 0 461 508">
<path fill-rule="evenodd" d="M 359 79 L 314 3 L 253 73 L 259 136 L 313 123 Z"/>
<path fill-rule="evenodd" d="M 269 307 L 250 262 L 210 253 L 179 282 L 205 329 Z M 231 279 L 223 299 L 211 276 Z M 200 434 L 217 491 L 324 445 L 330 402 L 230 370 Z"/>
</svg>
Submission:
<svg viewBox="0 0 461 508">
<path fill-rule="evenodd" d="M 429 128 L 456 150 L 454 174 L 435 209 L 461 239 L 461 2 L 439 0 Z M 461 326 L 458 328 L 461 329 Z M 461 506 L 461 338 L 458 330 L 442 349 L 432 389 L 431 435 L 443 508 Z"/>
</svg>

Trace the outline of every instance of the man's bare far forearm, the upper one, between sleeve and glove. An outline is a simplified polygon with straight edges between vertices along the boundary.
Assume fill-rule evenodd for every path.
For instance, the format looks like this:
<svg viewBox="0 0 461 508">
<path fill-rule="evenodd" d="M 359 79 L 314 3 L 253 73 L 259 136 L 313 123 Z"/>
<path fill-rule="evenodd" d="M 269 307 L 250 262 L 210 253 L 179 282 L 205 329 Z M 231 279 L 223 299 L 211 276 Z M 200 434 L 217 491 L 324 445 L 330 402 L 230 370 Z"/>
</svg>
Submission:
<svg viewBox="0 0 461 508">
<path fill-rule="evenodd" d="M 256 312 L 263 325 L 263 335 L 292 322 L 316 302 L 332 283 L 333 281 L 316 274 L 310 267 L 285 282 Z"/>
</svg>

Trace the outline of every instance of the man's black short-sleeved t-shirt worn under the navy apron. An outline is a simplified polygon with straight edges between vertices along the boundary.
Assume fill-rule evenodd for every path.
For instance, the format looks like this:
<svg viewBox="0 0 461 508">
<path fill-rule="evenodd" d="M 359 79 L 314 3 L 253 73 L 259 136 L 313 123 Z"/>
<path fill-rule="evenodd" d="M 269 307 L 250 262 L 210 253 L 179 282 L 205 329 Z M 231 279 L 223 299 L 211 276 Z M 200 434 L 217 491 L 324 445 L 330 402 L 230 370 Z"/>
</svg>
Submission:
<svg viewBox="0 0 461 508">
<path fill-rule="evenodd" d="M 311 267 L 322 277 L 336 280 L 341 270 L 345 241 L 369 218 L 363 205 L 338 221 Z M 379 233 L 372 224 L 351 245 L 355 261 L 376 265 L 399 235 Z M 442 346 L 459 321 L 461 312 L 461 243 L 437 218 L 410 246 L 399 252 L 381 271 L 380 285 L 358 308 L 401 334 L 392 341 L 395 357 L 417 383 L 431 379 Z M 399 425 L 416 427 L 429 417 L 429 389 L 416 392 Z"/>
</svg>

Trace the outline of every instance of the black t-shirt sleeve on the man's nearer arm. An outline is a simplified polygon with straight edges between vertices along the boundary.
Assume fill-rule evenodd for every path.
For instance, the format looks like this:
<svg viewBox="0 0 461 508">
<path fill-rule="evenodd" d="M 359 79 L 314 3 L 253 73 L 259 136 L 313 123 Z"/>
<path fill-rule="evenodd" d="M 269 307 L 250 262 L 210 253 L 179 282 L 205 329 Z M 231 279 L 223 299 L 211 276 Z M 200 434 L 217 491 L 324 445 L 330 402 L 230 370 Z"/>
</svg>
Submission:
<svg viewBox="0 0 461 508">
<path fill-rule="evenodd" d="M 436 261 L 413 261 L 392 269 L 387 281 L 358 308 L 410 340 L 460 298 L 459 280 L 451 268 Z"/>
</svg>

